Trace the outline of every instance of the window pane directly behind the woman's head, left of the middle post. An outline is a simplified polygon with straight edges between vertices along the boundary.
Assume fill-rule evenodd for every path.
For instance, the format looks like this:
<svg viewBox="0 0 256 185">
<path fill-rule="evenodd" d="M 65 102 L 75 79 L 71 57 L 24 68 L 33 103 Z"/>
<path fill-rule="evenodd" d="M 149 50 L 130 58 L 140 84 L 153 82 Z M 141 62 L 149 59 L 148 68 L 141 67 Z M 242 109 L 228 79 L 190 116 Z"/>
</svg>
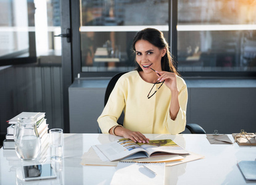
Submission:
<svg viewBox="0 0 256 185">
<path fill-rule="evenodd" d="M 133 37 L 143 28 L 168 40 L 168 0 L 82 0 L 80 10 L 81 72 L 132 70 Z"/>
</svg>

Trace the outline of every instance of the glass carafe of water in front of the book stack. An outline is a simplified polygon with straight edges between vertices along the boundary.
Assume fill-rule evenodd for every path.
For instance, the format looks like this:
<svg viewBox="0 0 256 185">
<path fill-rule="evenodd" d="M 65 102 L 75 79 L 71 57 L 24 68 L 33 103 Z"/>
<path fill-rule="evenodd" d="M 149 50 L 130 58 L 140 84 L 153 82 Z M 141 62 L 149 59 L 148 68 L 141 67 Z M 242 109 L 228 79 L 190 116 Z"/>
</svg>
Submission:
<svg viewBox="0 0 256 185">
<path fill-rule="evenodd" d="M 22 160 L 34 160 L 41 150 L 36 117 L 18 118 L 14 128 L 15 151 Z"/>
</svg>

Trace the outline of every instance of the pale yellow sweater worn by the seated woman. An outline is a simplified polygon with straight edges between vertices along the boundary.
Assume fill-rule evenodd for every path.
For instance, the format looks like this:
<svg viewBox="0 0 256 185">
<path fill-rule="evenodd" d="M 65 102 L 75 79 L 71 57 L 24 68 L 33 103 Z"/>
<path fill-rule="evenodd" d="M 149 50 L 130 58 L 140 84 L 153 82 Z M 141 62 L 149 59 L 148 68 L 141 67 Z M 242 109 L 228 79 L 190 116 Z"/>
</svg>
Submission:
<svg viewBox="0 0 256 185">
<path fill-rule="evenodd" d="M 102 133 L 109 133 L 117 125 L 122 111 L 125 113 L 123 126 L 143 134 L 178 134 L 186 126 L 188 89 L 185 81 L 176 76 L 180 110 L 175 120 L 170 118 L 171 91 L 165 84 L 147 99 L 153 84 L 142 80 L 137 71 L 122 75 L 109 96 L 103 112 L 97 119 Z M 155 85 L 154 92 L 160 84 Z"/>
</svg>

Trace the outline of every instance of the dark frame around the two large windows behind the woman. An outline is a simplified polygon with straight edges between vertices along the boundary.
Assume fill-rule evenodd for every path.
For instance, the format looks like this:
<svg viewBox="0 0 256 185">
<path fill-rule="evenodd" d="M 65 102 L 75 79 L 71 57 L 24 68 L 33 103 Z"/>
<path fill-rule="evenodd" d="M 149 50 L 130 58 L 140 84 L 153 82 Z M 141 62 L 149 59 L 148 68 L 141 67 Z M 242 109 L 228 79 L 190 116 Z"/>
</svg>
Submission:
<svg viewBox="0 0 256 185">
<path fill-rule="evenodd" d="M 71 2 L 71 24 L 72 24 L 72 76 L 73 80 L 78 77 L 110 77 L 119 72 L 82 72 L 81 71 L 81 44 L 80 44 L 80 2 Z M 168 28 L 170 52 L 178 68 L 178 0 L 168 0 Z M 256 72 L 180 72 L 185 78 L 256 78 Z"/>
</svg>

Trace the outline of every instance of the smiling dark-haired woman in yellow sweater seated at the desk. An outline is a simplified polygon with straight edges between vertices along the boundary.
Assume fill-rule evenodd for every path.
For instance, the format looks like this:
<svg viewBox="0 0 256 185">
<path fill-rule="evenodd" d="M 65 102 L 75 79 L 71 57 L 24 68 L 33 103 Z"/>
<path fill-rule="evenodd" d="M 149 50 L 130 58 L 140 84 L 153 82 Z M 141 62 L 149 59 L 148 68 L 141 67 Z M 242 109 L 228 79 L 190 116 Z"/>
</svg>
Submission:
<svg viewBox="0 0 256 185">
<path fill-rule="evenodd" d="M 147 133 L 181 133 L 186 126 L 188 90 L 173 66 L 163 33 L 154 28 L 139 31 L 133 50 L 137 68 L 115 84 L 97 120 L 102 133 L 143 143 L 149 142 Z M 123 127 L 117 123 L 122 111 Z"/>
</svg>

